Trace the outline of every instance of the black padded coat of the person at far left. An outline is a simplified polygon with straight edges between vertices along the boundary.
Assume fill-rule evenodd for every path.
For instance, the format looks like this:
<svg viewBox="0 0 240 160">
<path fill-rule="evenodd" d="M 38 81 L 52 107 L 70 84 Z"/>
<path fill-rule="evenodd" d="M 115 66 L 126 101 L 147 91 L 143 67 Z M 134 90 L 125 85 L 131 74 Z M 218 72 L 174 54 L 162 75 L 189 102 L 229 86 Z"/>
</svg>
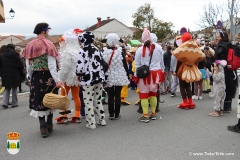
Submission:
<svg viewBox="0 0 240 160">
<path fill-rule="evenodd" d="M 2 86 L 18 87 L 20 84 L 19 72 L 23 70 L 20 55 L 12 49 L 7 49 L 0 55 Z"/>
</svg>

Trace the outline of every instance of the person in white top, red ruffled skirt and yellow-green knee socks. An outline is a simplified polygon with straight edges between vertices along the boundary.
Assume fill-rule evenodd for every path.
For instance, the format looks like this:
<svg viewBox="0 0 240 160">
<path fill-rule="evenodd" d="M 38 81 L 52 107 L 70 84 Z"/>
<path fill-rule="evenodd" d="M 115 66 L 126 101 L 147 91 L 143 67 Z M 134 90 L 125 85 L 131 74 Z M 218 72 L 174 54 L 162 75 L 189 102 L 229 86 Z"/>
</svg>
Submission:
<svg viewBox="0 0 240 160">
<path fill-rule="evenodd" d="M 150 100 L 151 114 L 150 118 L 156 120 L 157 90 L 159 83 L 164 81 L 164 75 L 161 66 L 162 54 L 160 48 L 152 43 L 150 32 L 144 28 L 142 34 L 143 46 L 139 47 L 135 56 L 135 67 L 138 75 L 138 68 L 143 65 L 149 66 L 150 73 L 145 78 L 139 78 L 138 87 L 140 90 L 141 106 L 143 115 L 140 117 L 141 122 L 149 122 L 148 101 Z M 151 58 L 152 57 L 152 58 Z M 151 63 L 150 63 L 151 59 Z"/>
</svg>

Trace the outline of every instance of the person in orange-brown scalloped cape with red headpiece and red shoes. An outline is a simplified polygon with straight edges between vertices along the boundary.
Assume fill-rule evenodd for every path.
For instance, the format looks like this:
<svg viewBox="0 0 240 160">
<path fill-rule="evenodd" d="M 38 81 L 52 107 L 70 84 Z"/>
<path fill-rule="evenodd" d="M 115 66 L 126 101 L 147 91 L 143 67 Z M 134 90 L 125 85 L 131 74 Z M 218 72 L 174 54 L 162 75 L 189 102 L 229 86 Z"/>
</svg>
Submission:
<svg viewBox="0 0 240 160">
<path fill-rule="evenodd" d="M 182 42 L 183 44 L 172 52 L 178 60 L 176 74 L 179 78 L 180 92 L 183 99 L 183 102 L 178 105 L 178 108 L 193 109 L 195 104 L 192 101 L 192 91 L 189 82 L 199 81 L 202 78 L 197 63 L 202 61 L 205 55 L 195 40 L 192 40 L 188 32 L 182 35 Z"/>
</svg>

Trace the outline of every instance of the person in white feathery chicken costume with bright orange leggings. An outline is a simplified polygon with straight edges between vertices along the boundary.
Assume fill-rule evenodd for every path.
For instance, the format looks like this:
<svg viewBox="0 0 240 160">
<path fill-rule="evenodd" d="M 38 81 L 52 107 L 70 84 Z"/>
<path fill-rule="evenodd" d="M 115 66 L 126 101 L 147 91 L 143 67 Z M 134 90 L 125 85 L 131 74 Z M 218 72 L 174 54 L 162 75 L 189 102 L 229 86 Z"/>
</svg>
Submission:
<svg viewBox="0 0 240 160">
<path fill-rule="evenodd" d="M 82 31 L 79 29 L 70 29 L 66 31 L 60 42 L 61 49 L 61 61 L 60 61 L 60 71 L 59 78 L 62 82 L 64 82 L 64 87 L 66 89 L 66 93 L 64 93 L 64 89 L 61 89 L 61 95 L 68 94 L 71 89 L 72 97 L 74 100 L 75 106 L 75 115 L 70 118 L 71 122 L 81 123 L 80 120 L 80 82 L 78 80 L 78 76 L 76 76 L 76 64 L 77 55 L 80 50 L 80 45 L 78 43 L 78 34 Z M 66 111 L 60 112 L 62 116 L 55 118 L 58 124 L 67 123 L 68 117 Z"/>
</svg>

